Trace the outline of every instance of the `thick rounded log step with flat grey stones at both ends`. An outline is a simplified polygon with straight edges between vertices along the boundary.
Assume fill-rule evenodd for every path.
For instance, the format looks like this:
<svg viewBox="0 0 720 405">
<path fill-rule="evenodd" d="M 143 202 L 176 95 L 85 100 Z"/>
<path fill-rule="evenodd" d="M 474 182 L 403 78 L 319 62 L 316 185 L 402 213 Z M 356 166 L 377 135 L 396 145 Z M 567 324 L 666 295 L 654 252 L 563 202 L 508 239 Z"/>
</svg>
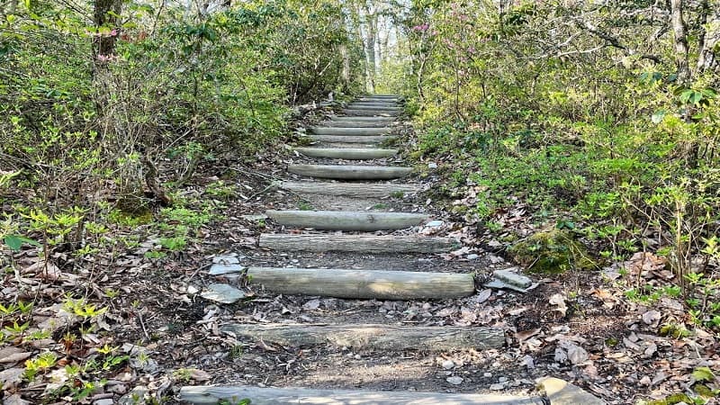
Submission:
<svg viewBox="0 0 720 405">
<path fill-rule="evenodd" d="M 273 293 L 353 300 L 445 300 L 475 292 L 474 274 L 250 267 L 247 277 Z"/>
</svg>

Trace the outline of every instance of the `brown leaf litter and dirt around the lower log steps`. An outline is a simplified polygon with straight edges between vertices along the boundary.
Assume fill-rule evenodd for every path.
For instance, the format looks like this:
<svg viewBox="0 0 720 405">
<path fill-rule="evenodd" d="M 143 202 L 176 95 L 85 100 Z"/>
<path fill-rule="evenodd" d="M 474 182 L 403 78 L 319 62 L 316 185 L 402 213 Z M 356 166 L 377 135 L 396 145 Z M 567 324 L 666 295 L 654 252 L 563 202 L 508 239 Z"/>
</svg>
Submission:
<svg viewBox="0 0 720 405">
<path fill-rule="evenodd" d="M 687 324 L 680 301 L 662 298 L 650 308 L 626 298 L 625 284 L 621 283 L 624 278 L 652 284 L 669 277 L 662 260 L 650 254 L 635 255 L 602 271 L 529 275 L 537 286 L 527 293 L 478 285 L 477 293 L 471 297 L 443 302 L 278 296 L 249 286 L 245 286 L 247 299 L 236 304 L 204 300 L 199 295 L 203 288 L 222 280 L 207 274 L 212 258 L 228 254 L 238 255 L 249 266 L 465 269 L 476 271 L 481 279 L 492 270 L 514 266 L 502 238 L 437 208 L 441 204 L 430 201 L 430 193 L 383 203 L 388 208 L 403 206 L 432 211 L 436 219 L 443 220 L 443 225 L 427 229 L 428 233 L 463 240 L 464 247 L 450 254 L 349 257 L 260 249 L 259 234 L 272 231 L 274 225 L 247 215 L 267 209 L 297 209 L 307 204 L 293 193 L 269 186 L 275 179 L 287 178 L 283 167 L 289 160 L 297 161 L 297 157 L 289 156 L 279 147 L 253 166 L 231 166 L 229 173 L 235 174 L 231 183 L 237 193 L 219 201 L 219 211 L 213 212 L 215 220 L 202 225 L 182 253 L 149 258 L 147 253 L 157 247 L 160 235 L 148 224 L 112 229 L 113 238 L 135 235 L 139 241 L 114 252 L 112 257 L 98 256 L 93 266 L 74 274 L 62 267 L 45 266 L 37 249 L 15 254 L 17 272 L 4 275 L 0 298 L 7 302 L 20 295 L 35 302 L 29 331 L 47 327 L 52 321 L 57 322 L 58 328 L 51 337 L 34 340 L 29 345 L 5 345 L 0 349 L 4 403 L 103 405 L 121 398 L 130 401 L 128 392 L 147 392 L 158 401 L 172 403 L 180 386 L 208 383 L 528 393 L 535 391 L 536 378 L 554 376 L 579 385 L 608 403 L 628 404 L 663 399 L 673 393 L 698 392 L 698 380 L 703 378 L 693 371 L 699 366 L 712 370 L 720 367 L 714 336 L 696 329 L 690 336 L 677 338 L 673 332 L 680 329 L 663 328 Z M 223 171 L 226 170 L 220 170 Z M 216 167 L 198 173 L 197 185 L 185 189 L 187 196 L 202 197 L 201 184 L 217 181 L 218 172 Z M 425 183 L 427 189 L 435 181 L 432 176 L 415 180 Z M 464 198 L 455 203 L 471 201 L 473 193 L 476 193 L 473 187 L 468 187 Z M 313 208 L 332 203 L 314 202 Z M 504 232 L 520 236 L 531 234 L 539 226 L 534 225 L 527 207 L 519 201 L 501 220 Z M 626 272 L 621 272 L 621 268 Z M 111 291 L 115 293 L 108 293 Z M 89 320 L 69 314 L 67 306 L 61 304 L 66 293 L 81 293 L 87 302 L 93 302 L 98 309 L 106 307 L 107 311 L 88 317 Z M 8 319 L 4 316 L 6 327 Z M 263 341 L 238 340 L 219 332 L 219 326 L 227 322 L 339 320 L 500 327 L 507 331 L 507 347 L 442 354 L 377 354 L 345 347 L 280 347 Z M 94 329 L 80 330 L 91 325 Z M 71 332 L 78 332 L 77 336 L 82 338 L 67 339 Z M 28 383 L 23 378 L 26 369 L 23 362 L 49 350 L 64 354 L 56 359 L 58 365 L 86 365 L 94 360 L 96 368 L 80 378 L 57 366 L 45 369 L 40 366 L 38 376 Z M 119 365 L 112 365 L 114 357 L 121 359 Z M 78 395 L 92 376 L 107 381 L 103 387 L 95 386 L 92 392 Z M 65 388 L 58 391 L 62 387 Z M 710 385 L 710 389 L 715 388 Z M 715 400 L 707 403 L 712 401 Z"/>
</svg>

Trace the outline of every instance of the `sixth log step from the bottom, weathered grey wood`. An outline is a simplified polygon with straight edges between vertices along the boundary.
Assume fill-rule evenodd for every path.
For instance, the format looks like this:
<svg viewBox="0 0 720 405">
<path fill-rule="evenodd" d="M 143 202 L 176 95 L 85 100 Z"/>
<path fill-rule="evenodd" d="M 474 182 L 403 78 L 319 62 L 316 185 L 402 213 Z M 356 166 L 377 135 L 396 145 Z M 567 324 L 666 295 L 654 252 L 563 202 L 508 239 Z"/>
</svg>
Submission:
<svg viewBox="0 0 720 405">
<path fill-rule="evenodd" d="M 381 149 L 382 150 L 382 149 Z M 415 184 L 283 182 L 280 187 L 293 193 L 347 195 L 359 198 L 382 198 L 394 193 L 417 193 Z"/>
</svg>

